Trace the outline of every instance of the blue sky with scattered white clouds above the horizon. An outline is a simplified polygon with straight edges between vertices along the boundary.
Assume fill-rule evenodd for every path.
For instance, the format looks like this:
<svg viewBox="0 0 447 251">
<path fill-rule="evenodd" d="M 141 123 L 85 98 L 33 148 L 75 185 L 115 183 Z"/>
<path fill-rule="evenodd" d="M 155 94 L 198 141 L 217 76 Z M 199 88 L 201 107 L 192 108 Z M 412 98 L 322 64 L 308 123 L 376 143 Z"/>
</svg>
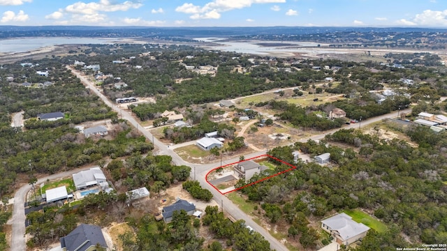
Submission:
<svg viewBox="0 0 447 251">
<path fill-rule="evenodd" d="M 0 0 L 0 25 L 447 28 L 447 0 Z"/>
</svg>

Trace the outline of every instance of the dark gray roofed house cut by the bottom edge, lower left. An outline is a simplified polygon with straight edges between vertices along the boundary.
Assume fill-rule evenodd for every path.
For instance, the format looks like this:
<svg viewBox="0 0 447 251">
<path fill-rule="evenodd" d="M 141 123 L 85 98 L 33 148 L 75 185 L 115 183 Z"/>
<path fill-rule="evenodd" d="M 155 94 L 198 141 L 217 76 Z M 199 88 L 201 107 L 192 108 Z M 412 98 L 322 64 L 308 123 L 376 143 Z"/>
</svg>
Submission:
<svg viewBox="0 0 447 251">
<path fill-rule="evenodd" d="M 81 224 L 60 241 L 64 251 L 93 251 L 98 244 L 108 248 L 101 227 L 95 225 Z"/>
</svg>

